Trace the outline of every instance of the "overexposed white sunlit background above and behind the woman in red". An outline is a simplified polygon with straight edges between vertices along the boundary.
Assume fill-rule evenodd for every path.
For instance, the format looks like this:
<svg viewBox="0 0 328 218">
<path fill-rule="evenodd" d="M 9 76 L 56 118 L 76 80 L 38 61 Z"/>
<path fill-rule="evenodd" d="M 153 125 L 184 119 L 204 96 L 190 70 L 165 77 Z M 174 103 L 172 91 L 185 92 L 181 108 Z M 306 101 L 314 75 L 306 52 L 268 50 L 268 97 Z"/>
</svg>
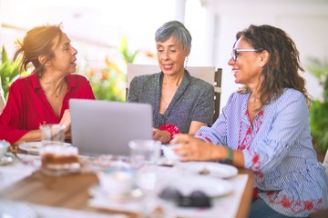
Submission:
<svg viewBox="0 0 328 218">
<path fill-rule="evenodd" d="M 148 51 L 155 47 L 154 34 L 159 25 L 174 19 L 175 0 L 2 0 L 2 24 L 14 26 L 17 35 L 36 26 L 63 24 L 77 46 L 79 59 L 99 59 L 116 48 L 127 36 L 131 50 Z M 12 49 L 13 31 L 3 28 L 3 44 Z"/>
</svg>

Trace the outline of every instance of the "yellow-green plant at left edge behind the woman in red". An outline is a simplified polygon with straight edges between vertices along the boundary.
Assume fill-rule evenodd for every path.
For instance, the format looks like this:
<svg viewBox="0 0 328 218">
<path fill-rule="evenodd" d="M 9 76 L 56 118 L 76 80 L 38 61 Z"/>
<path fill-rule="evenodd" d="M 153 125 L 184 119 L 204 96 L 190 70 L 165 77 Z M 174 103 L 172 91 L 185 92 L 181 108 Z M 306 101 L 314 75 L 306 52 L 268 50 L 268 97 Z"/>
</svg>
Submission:
<svg viewBox="0 0 328 218">
<path fill-rule="evenodd" d="M 0 65 L 0 77 L 2 88 L 5 93 L 5 99 L 8 97 L 8 90 L 10 84 L 12 84 L 15 79 L 19 76 L 19 62 L 20 60 L 17 59 L 15 61 L 11 61 L 8 58 L 8 55 L 5 51 L 5 46 L 2 47 L 1 52 L 1 65 Z M 22 72 L 22 75 L 26 75 L 27 72 Z"/>
</svg>

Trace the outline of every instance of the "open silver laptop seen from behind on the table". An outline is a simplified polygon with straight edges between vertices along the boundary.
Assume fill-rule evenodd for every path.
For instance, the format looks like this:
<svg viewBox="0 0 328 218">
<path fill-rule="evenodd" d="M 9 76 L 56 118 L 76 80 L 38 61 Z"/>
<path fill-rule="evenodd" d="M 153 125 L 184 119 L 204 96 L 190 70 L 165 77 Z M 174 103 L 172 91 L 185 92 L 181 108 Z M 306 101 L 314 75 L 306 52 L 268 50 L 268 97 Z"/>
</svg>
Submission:
<svg viewBox="0 0 328 218">
<path fill-rule="evenodd" d="M 152 138 L 150 104 L 70 99 L 72 144 L 82 155 L 129 155 L 128 142 Z"/>
</svg>

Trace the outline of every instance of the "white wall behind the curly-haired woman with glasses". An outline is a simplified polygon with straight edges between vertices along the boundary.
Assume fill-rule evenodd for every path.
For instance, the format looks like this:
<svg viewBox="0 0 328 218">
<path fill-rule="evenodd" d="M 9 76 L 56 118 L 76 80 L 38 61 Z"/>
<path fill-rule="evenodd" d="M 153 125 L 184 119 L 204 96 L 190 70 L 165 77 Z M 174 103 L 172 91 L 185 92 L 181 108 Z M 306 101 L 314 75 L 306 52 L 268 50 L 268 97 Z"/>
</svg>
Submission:
<svg viewBox="0 0 328 218">
<path fill-rule="evenodd" d="M 235 35 L 249 25 L 275 25 L 282 28 L 296 43 L 303 66 L 308 56 L 323 61 L 328 58 L 328 1 L 325 0 L 203 0 L 212 16 L 219 21 L 216 27 L 216 46 L 213 47 L 214 65 L 223 68 L 221 105 L 238 85 L 234 84 L 231 67 L 227 64 Z M 213 10 L 213 8 L 215 8 Z M 306 87 L 310 94 L 319 98 L 322 88 L 316 78 L 306 72 Z"/>
</svg>

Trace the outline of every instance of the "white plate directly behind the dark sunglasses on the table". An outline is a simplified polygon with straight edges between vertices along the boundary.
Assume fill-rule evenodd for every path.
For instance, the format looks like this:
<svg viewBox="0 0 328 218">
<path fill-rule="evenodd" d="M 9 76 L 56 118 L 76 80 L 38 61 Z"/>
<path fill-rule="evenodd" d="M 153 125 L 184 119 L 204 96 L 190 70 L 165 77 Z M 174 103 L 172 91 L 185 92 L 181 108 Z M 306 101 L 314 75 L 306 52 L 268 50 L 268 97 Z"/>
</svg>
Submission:
<svg viewBox="0 0 328 218">
<path fill-rule="evenodd" d="M 194 191 L 200 191 L 209 197 L 219 197 L 231 193 L 233 188 L 230 181 L 200 175 L 180 176 L 171 185 L 185 196 L 189 196 Z"/>
</svg>

